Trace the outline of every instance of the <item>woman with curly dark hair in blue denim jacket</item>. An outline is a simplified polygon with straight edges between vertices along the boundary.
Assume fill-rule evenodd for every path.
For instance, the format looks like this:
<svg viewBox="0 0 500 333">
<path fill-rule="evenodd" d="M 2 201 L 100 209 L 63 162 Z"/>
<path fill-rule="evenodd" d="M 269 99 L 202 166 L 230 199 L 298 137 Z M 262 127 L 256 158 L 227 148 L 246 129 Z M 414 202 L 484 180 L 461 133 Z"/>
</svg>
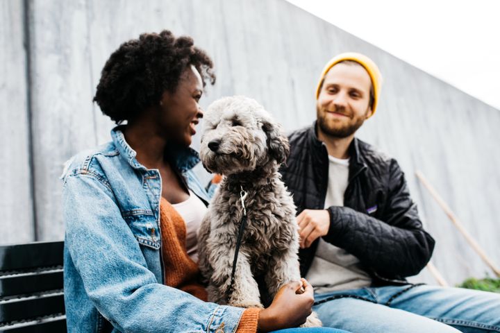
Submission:
<svg viewBox="0 0 500 333">
<path fill-rule="evenodd" d="M 106 62 L 94 101 L 126 125 L 63 175 L 69 332 L 268 332 L 310 314 L 305 280 L 305 293 L 290 283 L 267 309 L 203 301 L 195 239 L 209 198 L 189 146 L 212 67 L 190 37 L 169 31 L 128 41 Z"/>
</svg>

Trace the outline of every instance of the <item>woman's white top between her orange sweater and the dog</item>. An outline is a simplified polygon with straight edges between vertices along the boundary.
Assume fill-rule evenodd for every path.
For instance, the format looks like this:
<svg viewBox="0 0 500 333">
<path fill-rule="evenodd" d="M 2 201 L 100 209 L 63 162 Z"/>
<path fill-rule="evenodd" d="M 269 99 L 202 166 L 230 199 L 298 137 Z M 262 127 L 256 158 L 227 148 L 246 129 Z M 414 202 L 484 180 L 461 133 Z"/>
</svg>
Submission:
<svg viewBox="0 0 500 333">
<path fill-rule="evenodd" d="M 203 216 L 207 212 L 207 207 L 191 190 L 190 197 L 182 203 L 175 203 L 172 206 L 182 216 L 186 223 L 186 250 L 194 262 L 198 262 L 198 239 L 197 232 L 203 221 Z"/>
</svg>

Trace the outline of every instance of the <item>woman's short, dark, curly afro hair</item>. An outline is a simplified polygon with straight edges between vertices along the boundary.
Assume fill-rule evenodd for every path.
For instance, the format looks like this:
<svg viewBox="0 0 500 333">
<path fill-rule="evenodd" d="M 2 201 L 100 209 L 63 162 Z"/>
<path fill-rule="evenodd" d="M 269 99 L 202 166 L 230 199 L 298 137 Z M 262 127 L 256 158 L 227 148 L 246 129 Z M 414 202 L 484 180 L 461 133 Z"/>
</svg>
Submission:
<svg viewBox="0 0 500 333">
<path fill-rule="evenodd" d="M 163 92 L 175 92 L 183 71 L 196 67 L 213 85 L 213 62 L 193 45 L 191 37 L 176 38 L 170 31 L 143 33 L 111 54 L 101 72 L 94 101 L 116 123 L 134 119 L 158 105 Z"/>
</svg>

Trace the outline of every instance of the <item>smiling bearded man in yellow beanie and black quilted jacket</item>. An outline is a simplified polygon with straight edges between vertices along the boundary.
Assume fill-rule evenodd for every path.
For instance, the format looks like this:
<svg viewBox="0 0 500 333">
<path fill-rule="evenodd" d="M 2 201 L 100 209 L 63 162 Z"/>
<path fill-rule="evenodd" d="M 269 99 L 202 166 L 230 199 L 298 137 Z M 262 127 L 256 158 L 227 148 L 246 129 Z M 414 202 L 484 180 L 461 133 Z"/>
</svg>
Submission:
<svg viewBox="0 0 500 333">
<path fill-rule="evenodd" d="M 376 111 L 381 74 L 359 53 L 330 60 L 317 121 L 290 135 L 301 273 L 324 325 L 356 332 L 500 332 L 500 295 L 408 284 L 434 248 L 396 160 L 354 137 Z"/>
</svg>

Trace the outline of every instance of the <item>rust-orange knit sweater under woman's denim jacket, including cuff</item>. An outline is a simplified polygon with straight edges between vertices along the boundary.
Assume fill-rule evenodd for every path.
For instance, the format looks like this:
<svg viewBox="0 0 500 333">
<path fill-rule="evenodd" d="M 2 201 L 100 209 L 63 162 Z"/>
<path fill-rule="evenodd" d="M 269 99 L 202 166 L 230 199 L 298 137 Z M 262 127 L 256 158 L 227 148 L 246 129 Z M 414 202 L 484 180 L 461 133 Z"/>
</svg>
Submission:
<svg viewBox="0 0 500 333">
<path fill-rule="evenodd" d="M 165 198 L 162 198 L 160 203 L 160 228 L 165 284 L 206 301 L 207 292 L 199 282 L 198 265 L 190 258 L 186 250 L 185 222 Z M 259 312 L 260 309 L 244 310 L 236 333 L 257 332 Z"/>
</svg>

